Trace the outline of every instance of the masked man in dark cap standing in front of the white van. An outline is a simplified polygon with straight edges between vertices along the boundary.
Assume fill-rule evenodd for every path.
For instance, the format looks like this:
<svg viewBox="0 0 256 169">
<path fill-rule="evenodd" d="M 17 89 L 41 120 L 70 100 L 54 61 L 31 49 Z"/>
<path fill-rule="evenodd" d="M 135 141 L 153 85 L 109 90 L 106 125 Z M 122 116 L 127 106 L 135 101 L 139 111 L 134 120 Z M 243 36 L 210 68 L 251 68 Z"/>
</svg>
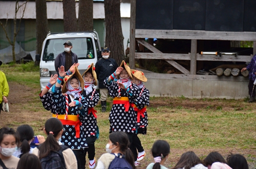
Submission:
<svg viewBox="0 0 256 169">
<path fill-rule="evenodd" d="M 65 71 L 68 71 L 69 68 L 74 63 L 78 63 L 77 55 L 71 51 L 73 47 L 72 43 L 68 40 L 63 45 L 64 45 L 64 52 L 58 54 L 54 62 L 54 66 L 55 66 L 55 70 L 57 71 L 57 74 L 59 74 L 58 68 L 60 68 L 60 66 L 64 66 Z"/>
</svg>

